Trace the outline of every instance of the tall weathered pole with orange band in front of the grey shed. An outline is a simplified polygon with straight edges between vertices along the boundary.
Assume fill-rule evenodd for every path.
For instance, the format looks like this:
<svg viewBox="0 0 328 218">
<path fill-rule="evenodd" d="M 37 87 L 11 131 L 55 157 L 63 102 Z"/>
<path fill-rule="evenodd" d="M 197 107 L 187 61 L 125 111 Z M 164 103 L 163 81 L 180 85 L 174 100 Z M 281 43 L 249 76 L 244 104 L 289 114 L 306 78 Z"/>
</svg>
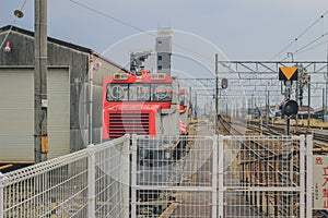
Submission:
<svg viewBox="0 0 328 218">
<path fill-rule="evenodd" d="M 47 0 L 34 2 L 34 159 L 35 162 L 47 160 Z"/>
</svg>

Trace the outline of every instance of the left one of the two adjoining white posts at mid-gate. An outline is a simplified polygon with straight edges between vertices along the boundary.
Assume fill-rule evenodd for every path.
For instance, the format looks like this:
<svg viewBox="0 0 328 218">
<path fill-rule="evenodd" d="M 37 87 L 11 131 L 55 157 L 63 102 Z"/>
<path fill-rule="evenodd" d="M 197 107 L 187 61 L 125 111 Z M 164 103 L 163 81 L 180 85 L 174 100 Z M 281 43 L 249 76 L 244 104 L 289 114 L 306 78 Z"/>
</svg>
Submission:
<svg viewBox="0 0 328 218">
<path fill-rule="evenodd" d="M 213 137 L 213 159 L 212 159 L 212 217 L 216 218 L 218 206 L 218 135 Z"/>
</svg>

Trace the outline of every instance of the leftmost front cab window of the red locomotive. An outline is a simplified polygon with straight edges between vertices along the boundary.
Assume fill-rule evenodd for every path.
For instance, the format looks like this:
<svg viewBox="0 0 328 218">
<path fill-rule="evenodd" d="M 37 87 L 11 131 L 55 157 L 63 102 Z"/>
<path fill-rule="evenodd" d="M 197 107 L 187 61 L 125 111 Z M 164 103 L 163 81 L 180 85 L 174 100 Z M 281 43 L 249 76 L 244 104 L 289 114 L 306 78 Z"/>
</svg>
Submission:
<svg viewBox="0 0 328 218">
<path fill-rule="evenodd" d="M 109 101 L 127 101 L 128 84 L 108 84 L 107 85 L 107 100 Z"/>
</svg>

